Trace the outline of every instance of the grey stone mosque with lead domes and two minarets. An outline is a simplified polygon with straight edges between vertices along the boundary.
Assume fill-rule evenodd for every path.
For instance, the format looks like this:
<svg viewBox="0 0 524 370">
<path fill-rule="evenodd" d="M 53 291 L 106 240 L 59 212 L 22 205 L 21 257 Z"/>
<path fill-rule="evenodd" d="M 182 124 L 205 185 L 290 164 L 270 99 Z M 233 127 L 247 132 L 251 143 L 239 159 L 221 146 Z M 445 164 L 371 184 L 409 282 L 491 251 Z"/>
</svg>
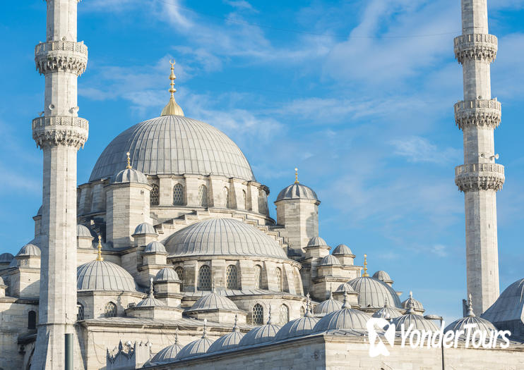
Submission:
<svg viewBox="0 0 524 370">
<path fill-rule="evenodd" d="M 386 271 L 370 276 L 362 251 L 327 245 L 321 200 L 297 172 L 270 199 L 237 144 L 184 116 L 174 63 L 160 116 L 121 132 L 88 183 L 76 183 L 89 128 L 76 104 L 88 59 L 77 2 L 47 0 L 47 42 L 35 49 L 46 80 L 44 114 L 32 122 L 43 197 L 35 238 L 16 256 L 0 254 L 0 370 L 524 369 L 524 279 L 498 290 L 494 197 L 504 167 L 489 156 L 500 104 L 479 92 L 496 54 L 486 0 L 462 1 L 455 39 L 465 71 L 455 118 L 466 163 L 455 183 L 466 199 L 469 299 L 446 331 L 509 330 L 509 346 L 460 340 L 444 354 L 400 347 L 397 333 L 387 357 L 369 355 L 369 319 L 439 331 L 441 318 L 424 316 L 411 292 L 401 300 Z"/>
</svg>

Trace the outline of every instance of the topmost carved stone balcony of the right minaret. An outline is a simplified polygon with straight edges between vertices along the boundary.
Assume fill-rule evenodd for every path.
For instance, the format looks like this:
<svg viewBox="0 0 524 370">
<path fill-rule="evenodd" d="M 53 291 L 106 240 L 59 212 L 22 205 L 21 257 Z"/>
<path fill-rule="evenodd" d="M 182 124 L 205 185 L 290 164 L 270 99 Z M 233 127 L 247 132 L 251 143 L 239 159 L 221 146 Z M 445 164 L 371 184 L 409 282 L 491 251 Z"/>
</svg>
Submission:
<svg viewBox="0 0 524 370">
<path fill-rule="evenodd" d="M 461 64 L 468 59 L 492 63 L 497 48 L 498 40 L 494 35 L 474 33 L 455 37 L 455 58 Z"/>
</svg>

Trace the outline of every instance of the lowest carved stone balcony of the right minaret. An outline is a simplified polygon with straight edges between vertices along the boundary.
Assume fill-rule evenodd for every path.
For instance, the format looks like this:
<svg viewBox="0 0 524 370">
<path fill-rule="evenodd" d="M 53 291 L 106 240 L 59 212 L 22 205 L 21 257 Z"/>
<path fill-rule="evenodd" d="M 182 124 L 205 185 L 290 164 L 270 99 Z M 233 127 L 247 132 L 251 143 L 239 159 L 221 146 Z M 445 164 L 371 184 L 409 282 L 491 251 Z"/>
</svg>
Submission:
<svg viewBox="0 0 524 370">
<path fill-rule="evenodd" d="M 462 192 L 496 190 L 504 185 L 504 166 L 501 164 L 463 164 L 455 167 L 455 184 Z"/>
</svg>

